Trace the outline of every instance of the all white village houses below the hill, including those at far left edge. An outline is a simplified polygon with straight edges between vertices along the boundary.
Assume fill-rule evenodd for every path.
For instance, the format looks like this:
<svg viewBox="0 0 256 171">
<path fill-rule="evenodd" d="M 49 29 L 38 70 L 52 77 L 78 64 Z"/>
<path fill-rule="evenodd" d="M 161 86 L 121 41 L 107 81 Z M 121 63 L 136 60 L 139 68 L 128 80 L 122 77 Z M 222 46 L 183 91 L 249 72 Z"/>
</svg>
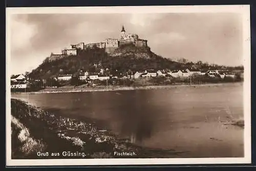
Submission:
<svg viewBox="0 0 256 171">
<path fill-rule="evenodd" d="M 101 69 L 98 73 L 89 73 L 88 71 L 81 70 L 79 73 L 80 80 L 108 80 L 110 78 L 151 78 L 151 77 L 174 77 L 174 78 L 189 78 L 191 76 L 197 75 L 207 75 L 210 78 L 219 77 L 224 79 L 225 77 L 234 78 L 235 74 L 230 73 L 229 71 L 220 71 L 220 70 L 197 70 L 197 69 L 186 69 L 186 70 L 144 70 L 144 71 L 136 71 L 131 72 L 130 74 L 121 74 L 116 71 L 116 74 L 108 74 L 109 70 Z M 65 74 L 58 75 L 56 80 L 58 81 L 68 81 L 74 75 Z M 28 87 L 28 80 L 23 74 L 14 75 L 11 77 L 11 89 L 26 89 Z"/>
</svg>

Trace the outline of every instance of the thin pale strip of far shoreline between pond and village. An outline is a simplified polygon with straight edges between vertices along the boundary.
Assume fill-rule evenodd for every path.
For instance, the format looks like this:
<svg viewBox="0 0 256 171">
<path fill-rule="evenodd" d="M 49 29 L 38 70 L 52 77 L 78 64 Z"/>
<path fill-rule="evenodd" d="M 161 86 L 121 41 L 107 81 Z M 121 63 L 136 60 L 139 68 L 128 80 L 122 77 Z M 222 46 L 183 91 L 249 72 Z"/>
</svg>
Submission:
<svg viewBox="0 0 256 171">
<path fill-rule="evenodd" d="M 175 84 L 164 86 L 140 86 L 140 87 L 122 87 L 122 86 L 95 86 L 90 88 L 75 88 L 69 86 L 68 88 L 60 87 L 54 89 L 44 89 L 37 92 L 11 92 L 11 94 L 48 94 L 48 93 L 77 93 L 77 92 L 102 92 L 102 91 L 128 91 L 128 90 L 156 90 L 156 89 L 172 89 L 179 87 L 218 87 L 243 84 L 243 82 L 227 82 L 227 83 L 205 83 L 205 84 Z"/>
</svg>

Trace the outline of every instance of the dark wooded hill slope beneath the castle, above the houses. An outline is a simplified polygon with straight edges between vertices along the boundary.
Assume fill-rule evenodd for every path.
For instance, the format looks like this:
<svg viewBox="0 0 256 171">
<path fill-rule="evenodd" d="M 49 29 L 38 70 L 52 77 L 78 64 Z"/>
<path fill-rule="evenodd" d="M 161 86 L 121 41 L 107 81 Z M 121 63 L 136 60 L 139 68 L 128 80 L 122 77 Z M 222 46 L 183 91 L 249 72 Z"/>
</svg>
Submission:
<svg viewBox="0 0 256 171">
<path fill-rule="evenodd" d="M 161 69 L 220 69 L 221 66 L 209 66 L 199 61 L 175 62 L 153 53 L 149 47 L 137 48 L 133 45 L 121 46 L 113 53 L 108 54 L 104 49 L 93 48 L 81 50 L 76 56 L 69 56 L 55 61 L 46 58 L 36 69 L 29 73 L 33 79 L 48 79 L 57 77 L 59 74 L 75 74 L 80 70 L 98 72 L 100 69 L 108 68 L 110 72 L 125 74 L 127 71 L 138 70 L 161 70 Z M 222 66 L 223 67 L 223 66 Z M 222 68 L 223 69 L 223 68 Z"/>
</svg>

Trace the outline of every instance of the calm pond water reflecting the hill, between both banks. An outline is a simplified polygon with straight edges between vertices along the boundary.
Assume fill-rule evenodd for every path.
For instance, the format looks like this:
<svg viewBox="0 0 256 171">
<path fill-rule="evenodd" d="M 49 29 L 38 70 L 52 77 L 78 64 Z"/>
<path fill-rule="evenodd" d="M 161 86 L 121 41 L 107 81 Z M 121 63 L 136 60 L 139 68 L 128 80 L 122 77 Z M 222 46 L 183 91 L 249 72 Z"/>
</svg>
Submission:
<svg viewBox="0 0 256 171">
<path fill-rule="evenodd" d="M 27 95 L 12 95 L 27 99 Z M 182 157 L 243 157 L 242 85 L 30 94 L 29 102 L 61 115 L 91 118 L 141 146 Z"/>
</svg>

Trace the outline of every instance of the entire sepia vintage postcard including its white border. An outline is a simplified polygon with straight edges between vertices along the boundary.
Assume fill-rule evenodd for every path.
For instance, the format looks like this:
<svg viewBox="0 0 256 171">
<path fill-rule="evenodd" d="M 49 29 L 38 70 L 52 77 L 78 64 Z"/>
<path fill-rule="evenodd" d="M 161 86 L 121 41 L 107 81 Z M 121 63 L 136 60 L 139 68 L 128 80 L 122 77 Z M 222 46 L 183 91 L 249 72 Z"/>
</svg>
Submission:
<svg viewBox="0 0 256 171">
<path fill-rule="evenodd" d="M 7 166 L 250 163 L 249 9 L 7 8 Z"/>
</svg>

